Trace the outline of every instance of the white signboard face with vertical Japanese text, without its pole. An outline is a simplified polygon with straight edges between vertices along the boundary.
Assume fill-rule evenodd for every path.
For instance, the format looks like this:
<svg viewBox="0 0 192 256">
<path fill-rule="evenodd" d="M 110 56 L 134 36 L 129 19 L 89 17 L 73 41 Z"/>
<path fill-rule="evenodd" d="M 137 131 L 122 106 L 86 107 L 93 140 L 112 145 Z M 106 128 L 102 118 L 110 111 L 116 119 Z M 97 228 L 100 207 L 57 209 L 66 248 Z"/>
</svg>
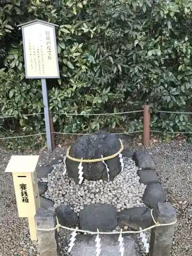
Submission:
<svg viewBox="0 0 192 256">
<path fill-rule="evenodd" d="M 32 24 L 23 28 L 27 78 L 59 78 L 55 28 Z"/>
</svg>

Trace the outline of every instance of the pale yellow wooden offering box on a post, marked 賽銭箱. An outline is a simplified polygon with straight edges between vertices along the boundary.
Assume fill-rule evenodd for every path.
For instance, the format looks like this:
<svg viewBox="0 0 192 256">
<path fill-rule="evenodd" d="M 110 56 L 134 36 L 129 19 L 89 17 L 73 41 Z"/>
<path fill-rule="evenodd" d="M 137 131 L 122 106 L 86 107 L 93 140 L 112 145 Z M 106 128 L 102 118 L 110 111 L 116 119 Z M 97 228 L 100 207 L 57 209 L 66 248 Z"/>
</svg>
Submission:
<svg viewBox="0 0 192 256">
<path fill-rule="evenodd" d="M 12 173 L 18 217 L 27 217 L 31 240 L 37 241 L 35 214 L 40 207 L 36 165 L 39 156 L 12 156 L 6 173 Z"/>
</svg>

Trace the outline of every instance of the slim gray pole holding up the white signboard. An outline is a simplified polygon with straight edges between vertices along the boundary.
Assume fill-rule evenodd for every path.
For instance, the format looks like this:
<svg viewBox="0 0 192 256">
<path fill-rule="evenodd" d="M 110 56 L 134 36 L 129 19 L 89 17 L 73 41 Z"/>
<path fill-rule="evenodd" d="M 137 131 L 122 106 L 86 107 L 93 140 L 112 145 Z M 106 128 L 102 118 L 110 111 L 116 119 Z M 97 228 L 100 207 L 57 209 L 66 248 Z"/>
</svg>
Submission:
<svg viewBox="0 0 192 256">
<path fill-rule="evenodd" d="M 42 100 L 44 102 L 47 148 L 49 152 L 52 152 L 51 127 L 50 127 L 50 119 L 49 119 L 49 101 L 48 101 L 46 79 L 41 79 L 41 86 L 42 86 Z"/>
</svg>

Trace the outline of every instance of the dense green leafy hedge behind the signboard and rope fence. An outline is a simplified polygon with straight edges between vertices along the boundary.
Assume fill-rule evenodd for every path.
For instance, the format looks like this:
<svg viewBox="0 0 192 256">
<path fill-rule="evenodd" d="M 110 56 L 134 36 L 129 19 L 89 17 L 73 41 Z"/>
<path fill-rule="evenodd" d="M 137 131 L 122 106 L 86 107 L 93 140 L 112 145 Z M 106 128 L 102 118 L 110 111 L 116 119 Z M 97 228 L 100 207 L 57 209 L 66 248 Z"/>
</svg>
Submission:
<svg viewBox="0 0 192 256">
<path fill-rule="evenodd" d="M 34 18 L 56 29 L 60 79 L 48 81 L 54 113 L 185 111 L 191 103 L 191 1 L 10 0 L 0 8 L 0 119 L 4 127 L 42 130 L 39 80 L 24 73 L 22 32 Z M 54 115 L 57 131 L 142 129 L 142 113 L 82 117 Z M 1 125 L 1 124 L 0 124 Z M 187 115 L 152 111 L 152 129 L 191 133 Z"/>
</svg>

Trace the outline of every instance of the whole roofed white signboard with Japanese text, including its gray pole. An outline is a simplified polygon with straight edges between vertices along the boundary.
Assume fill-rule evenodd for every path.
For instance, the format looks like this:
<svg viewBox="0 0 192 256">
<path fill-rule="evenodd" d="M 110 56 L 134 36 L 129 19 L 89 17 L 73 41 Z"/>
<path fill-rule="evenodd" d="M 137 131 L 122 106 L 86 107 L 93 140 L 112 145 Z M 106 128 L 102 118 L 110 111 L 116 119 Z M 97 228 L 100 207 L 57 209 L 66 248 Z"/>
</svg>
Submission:
<svg viewBox="0 0 192 256">
<path fill-rule="evenodd" d="M 22 27 L 26 78 L 41 79 L 47 145 L 51 152 L 53 148 L 46 78 L 60 77 L 55 35 L 55 27 L 58 26 L 35 19 L 17 27 Z"/>
</svg>

